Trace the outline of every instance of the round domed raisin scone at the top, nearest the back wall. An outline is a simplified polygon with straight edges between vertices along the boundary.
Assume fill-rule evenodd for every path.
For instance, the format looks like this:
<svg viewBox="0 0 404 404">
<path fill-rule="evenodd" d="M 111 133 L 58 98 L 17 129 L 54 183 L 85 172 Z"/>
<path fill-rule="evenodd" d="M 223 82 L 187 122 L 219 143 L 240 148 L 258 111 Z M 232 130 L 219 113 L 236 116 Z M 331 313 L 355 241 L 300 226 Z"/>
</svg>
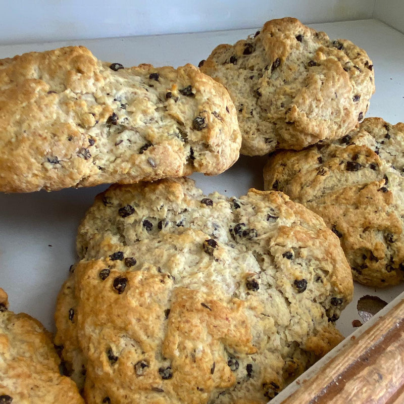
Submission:
<svg viewBox="0 0 404 404">
<path fill-rule="evenodd" d="M 228 89 L 240 153 L 248 156 L 344 136 L 363 120 L 375 90 L 363 49 L 294 18 L 268 21 L 246 40 L 217 46 L 199 66 Z"/>
</svg>

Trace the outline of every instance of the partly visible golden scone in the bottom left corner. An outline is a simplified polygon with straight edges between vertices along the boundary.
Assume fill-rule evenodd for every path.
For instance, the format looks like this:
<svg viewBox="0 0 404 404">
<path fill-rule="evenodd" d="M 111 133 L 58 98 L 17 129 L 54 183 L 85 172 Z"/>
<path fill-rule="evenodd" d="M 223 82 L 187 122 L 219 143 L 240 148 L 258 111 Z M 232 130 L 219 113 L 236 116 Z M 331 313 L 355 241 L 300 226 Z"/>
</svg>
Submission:
<svg viewBox="0 0 404 404">
<path fill-rule="evenodd" d="M 60 363 L 51 334 L 27 314 L 9 311 L 0 288 L 0 403 L 84 404 Z"/>
</svg>

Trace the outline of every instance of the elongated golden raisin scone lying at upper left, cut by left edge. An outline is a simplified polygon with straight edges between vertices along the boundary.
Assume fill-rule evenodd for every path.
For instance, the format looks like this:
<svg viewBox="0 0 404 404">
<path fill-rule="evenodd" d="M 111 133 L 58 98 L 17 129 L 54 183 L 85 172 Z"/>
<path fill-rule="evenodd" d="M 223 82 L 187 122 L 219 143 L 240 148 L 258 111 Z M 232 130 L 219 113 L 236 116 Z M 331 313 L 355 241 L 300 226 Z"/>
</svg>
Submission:
<svg viewBox="0 0 404 404">
<path fill-rule="evenodd" d="M 186 65 L 124 68 L 71 46 L 0 60 L 0 190 L 218 174 L 238 158 L 229 94 Z"/>
</svg>

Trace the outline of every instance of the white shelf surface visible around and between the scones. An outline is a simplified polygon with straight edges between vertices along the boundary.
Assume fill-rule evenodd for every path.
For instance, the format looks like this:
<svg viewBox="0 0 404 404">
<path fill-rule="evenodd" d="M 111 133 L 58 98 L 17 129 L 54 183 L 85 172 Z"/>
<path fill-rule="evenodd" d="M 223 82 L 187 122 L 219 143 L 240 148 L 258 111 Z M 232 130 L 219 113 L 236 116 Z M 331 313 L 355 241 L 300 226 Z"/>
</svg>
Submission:
<svg viewBox="0 0 404 404">
<path fill-rule="evenodd" d="M 404 35 L 375 21 L 315 24 L 331 38 L 348 38 L 366 49 L 375 66 L 376 93 L 367 116 L 380 116 L 395 124 L 404 121 Z M 100 59 L 126 66 L 149 62 L 155 65 L 197 64 L 219 43 L 234 43 L 255 29 L 211 33 L 65 41 L 45 44 L 0 46 L 0 58 L 28 51 L 42 51 L 67 44 L 83 44 Z M 205 192 L 217 190 L 240 195 L 249 187 L 263 189 L 262 167 L 266 158 L 243 157 L 230 170 L 216 177 L 193 175 Z M 0 193 L 0 287 L 10 298 L 11 309 L 38 318 L 54 329 L 53 313 L 57 293 L 75 262 L 77 226 L 96 193 L 107 186 L 66 189 L 31 194 Z M 356 285 L 355 299 L 338 327 L 345 334 L 359 319 L 357 299 L 377 294 L 390 301 L 404 285 L 376 291 Z"/>
</svg>

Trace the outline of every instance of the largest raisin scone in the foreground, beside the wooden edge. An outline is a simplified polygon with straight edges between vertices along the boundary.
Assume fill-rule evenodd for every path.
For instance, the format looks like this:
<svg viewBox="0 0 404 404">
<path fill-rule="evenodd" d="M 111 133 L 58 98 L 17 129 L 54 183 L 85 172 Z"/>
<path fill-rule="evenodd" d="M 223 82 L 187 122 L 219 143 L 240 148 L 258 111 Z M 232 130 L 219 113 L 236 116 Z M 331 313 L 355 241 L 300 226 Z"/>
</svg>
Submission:
<svg viewBox="0 0 404 404">
<path fill-rule="evenodd" d="M 342 339 L 338 238 L 281 192 L 114 185 L 77 246 L 56 343 L 89 404 L 265 403 Z"/>
</svg>

